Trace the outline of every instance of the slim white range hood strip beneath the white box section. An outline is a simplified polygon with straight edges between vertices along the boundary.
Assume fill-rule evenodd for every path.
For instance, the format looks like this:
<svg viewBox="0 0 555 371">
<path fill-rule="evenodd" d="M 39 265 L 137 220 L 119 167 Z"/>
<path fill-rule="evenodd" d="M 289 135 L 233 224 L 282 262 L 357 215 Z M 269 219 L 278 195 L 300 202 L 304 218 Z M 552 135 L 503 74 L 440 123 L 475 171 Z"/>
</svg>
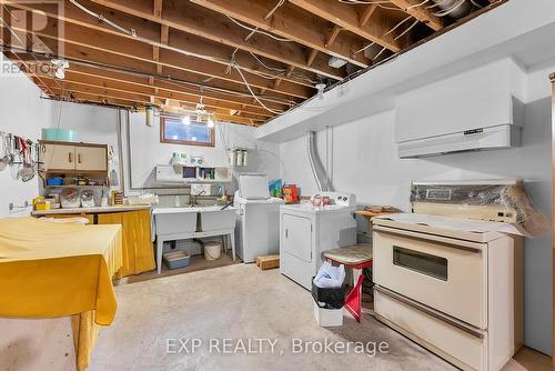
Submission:
<svg viewBox="0 0 555 371">
<path fill-rule="evenodd" d="M 501 124 L 427 137 L 398 143 L 398 157 L 421 158 L 463 151 L 504 149 L 521 146 L 522 128 Z"/>
</svg>

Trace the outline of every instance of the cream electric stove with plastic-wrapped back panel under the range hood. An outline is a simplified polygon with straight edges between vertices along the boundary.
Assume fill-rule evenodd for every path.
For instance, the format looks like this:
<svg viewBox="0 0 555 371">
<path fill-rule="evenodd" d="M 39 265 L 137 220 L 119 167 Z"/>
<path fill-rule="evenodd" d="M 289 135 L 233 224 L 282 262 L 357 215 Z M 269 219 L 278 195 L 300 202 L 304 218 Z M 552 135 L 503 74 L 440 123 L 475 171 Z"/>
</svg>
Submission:
<svg viewBox="0 0 555 371">
<path fill-rule="evenodd" d="M 492 210 L 503 207 L 500 219 L 516 210 L 466 197 L 440 201 L 474 194 L 441 183 L 413 186 L 413 209 L 426 189 L 435 200 L 424 205 L 438 214 L 373 220 L 376 318 L 463 370 L 501 370 L 523 342 L 522 239 L 492 221 Z M 474 219 L 446 217 L 450 208 Z"/>
</svg>

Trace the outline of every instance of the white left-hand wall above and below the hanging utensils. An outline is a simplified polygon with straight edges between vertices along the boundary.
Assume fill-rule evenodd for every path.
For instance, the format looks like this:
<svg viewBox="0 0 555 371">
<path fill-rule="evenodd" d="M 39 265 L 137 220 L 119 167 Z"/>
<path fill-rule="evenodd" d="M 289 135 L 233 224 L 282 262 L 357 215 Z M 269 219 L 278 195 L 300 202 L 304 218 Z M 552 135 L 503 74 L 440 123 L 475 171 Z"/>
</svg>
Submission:
<svg viewBox="0 0 555 371">
<path fill-rule="evenodd" d="M 51 101 L 41 99 L 39 88 L 22 73 L 0 77 L 0 131 L 33 141 L 51 123 Z M 8 204 L 22 205 L 37 197 L 38 177 L 24 183 L 16 179 L 17 170 L 12 167 L 0 172 L 0 218 L 29 214 L 30 208 L 10 213 Z"/>
</svg>

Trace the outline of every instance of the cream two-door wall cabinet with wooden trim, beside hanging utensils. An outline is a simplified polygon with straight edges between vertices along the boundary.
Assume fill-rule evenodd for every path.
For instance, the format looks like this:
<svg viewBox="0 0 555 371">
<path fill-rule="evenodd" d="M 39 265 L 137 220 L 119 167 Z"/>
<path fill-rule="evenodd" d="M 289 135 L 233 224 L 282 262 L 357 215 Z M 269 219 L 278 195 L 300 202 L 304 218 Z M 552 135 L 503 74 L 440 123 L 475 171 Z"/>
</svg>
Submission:
<svg viewBox="0 0 555 371">
<path fill-rule="evenodd" d="M 42 142 L 40 153 L 46 172 L 108 171 L 108 146 Z"/>
</svg>

